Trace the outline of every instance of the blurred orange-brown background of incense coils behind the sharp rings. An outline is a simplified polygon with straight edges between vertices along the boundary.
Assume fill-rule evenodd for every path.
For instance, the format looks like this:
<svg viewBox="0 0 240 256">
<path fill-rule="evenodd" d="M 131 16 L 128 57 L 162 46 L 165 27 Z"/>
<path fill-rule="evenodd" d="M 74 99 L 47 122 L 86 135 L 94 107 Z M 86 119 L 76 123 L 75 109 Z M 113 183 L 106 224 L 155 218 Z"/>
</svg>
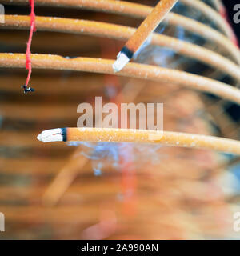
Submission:
<svg viewBox="0 0 240 256">
<path fill-rule="evenodd" d="M 96 0 L 98 1 L 98 0 Z M 138 27 L 142 18 L 35 1 L 35 14 Z M 44 1 L 42 1 L 43 3 Z M 116 1 L 118 2 L 118 1 Z M 129 1 L 155 6 L 158 1 Z M 205 0 L 232 22 L 232 2 Z M 234 1 L 233 1 L 234 2 Z M 237 2 L 237 1 L 236 1 Z M 28 1 L 0 1 L 7 15 L 29 15 Z M 209 10 L 209 9 L 207 9 Z M 206 12 L 179 1 L 172 10 L 222 33 Z M 227 14 L 227 16 L 226 16 Z M 54 22 L 54 20 L 53 20 Z M 227 23 L 226 23 L 227 24 Z M 29 30 L 1 24 L 1 53 L 25 53 Z M 240 25 L 234 24 L 238 34 Z M 228 27 L 230 30 L 230 27 Z M 222 46 L 186 26 L 156 30 L 231 59 Z M 236 38 L 230 38 L 234 44 Z M 38 31 L 33 54 L 115 59 L 124 42 L 93 35 Z M 134 62 L 185 70 L 238 86 L 207 63 L 161 46 L 145 46 Z M 239 106 L 169 82 L 61 70 L 0 68 L 1 239 L 238 239 L 240 158 L 211 150 L 114 143 L 42 143 L 51 128 L 76 126 L 78 104 L 163 102 L 164 130 L 239 139 Z"/>
</svg>

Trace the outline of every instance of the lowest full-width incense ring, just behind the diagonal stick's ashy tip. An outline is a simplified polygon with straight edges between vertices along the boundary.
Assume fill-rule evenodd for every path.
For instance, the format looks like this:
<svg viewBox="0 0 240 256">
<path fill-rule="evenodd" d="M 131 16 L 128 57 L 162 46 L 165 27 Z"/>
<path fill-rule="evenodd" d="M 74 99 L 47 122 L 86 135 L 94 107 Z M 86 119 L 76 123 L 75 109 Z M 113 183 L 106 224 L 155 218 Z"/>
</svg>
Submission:
<svg viewBox="0 0 240 256">
<path fill-rule="evenodd" d="M 103 74 L 114 74 L 112 60 L 99 58 L 67 59 L 58 55 L 32 54 L 32 65 L 38 69 L 78 70 Z M 0 54 L 1 67 L 24 67 L 25 54 Z M 194 90 L 206 91 L 219 97 L 240 104 L 240 90 L 225 83 L 204 78 L 183 71 L 170 70 L 157 66 L 129 63 L 121 72 L 121 76 L 143 78 L 153 81 L 164 80 L 190 87 Z"/>
</svg>

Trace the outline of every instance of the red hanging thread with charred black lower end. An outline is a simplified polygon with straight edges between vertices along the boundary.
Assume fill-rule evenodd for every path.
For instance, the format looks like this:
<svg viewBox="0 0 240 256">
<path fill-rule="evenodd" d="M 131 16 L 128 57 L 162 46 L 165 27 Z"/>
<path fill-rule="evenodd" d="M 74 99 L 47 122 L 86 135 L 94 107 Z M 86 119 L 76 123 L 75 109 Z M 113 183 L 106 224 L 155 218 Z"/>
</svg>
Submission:
<svg viewBox="0 0 240 256">
<path fill-rule="evenodd" d="M 28 87 L 29 81 L 30 81 L 30 76 L 32 73 L 32 64 L 31 64 L 31 43 L 32 43 L 32 38 L 33 34 L 36 31 L 36 26 L 35 26 L 35 14 L 34 14 L 34 0 L 30 0 L 30 7 L 31 7 L 31 12 L 30 12 L 30 34 L 28 38 L 28 42 L 26 45 L 26 70 L 28 70 L 27 78 L 26 78 L 26 84 L 22 86 L 24 93 L 28 93 L 30 91 L 34 91 L 33 88 Z"/>
</svg>

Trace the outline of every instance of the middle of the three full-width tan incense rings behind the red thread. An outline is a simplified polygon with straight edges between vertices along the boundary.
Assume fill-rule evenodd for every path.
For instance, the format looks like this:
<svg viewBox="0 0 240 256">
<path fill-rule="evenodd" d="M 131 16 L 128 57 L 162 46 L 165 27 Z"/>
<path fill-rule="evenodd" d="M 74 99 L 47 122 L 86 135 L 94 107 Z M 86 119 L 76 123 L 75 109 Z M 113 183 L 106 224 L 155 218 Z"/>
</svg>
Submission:
<svg viewBox="0 0 240 256">
<path fill-rule="evenodd" d="M 9 27 L 14 29 L 28 29 L 29 17 L 22 15 L 6 15 L 5 23 L 0 27 Z M 104 22 L 93 22 L 86 20 L 77 20 L 70 18 L 50 18 L 36 17 L 36 26 L 38 30 L 55 31 L 74 34 L 88 34 L 100 37 L 126 40 L 136 31 L 128 26 L 118 26 Z M 202 46 L 194 45 L 190 42 L 184 42 L 177 38 L 171 38 L 164 34 L 153 34 L 151 44 L 155 46 L 164 46 L 175 50 L 178 54 L 197 59 L 210 66 L 214 66 L 222 72 L 229 74 L 240 82 L 240 68 L 234 62 L 222 57 L 212 50 L 207 50 Z"/>
</svg>

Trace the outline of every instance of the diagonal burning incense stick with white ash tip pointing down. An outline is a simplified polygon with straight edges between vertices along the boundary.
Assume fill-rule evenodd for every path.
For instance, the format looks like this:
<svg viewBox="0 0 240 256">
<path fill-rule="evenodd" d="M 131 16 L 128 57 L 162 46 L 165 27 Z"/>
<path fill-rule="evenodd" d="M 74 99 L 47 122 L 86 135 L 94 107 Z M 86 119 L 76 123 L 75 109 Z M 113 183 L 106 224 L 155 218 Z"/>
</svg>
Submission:
<svg viewBox="0 0 240 256">
<path fill-rule="evenodd" d="M 161 0 L 154 10 L 146 17 L 142 24 L 135 31 L 134 35 L 126 42 L 122 50 L 118 53 L 117 60 L 114 62 L 113 69 L 118 72 L 130 61 L 133 55 L 140 49 L 146 39 L 156 29 L 166 14 L 174 7 L 178 0 Z"/>
</svg>

